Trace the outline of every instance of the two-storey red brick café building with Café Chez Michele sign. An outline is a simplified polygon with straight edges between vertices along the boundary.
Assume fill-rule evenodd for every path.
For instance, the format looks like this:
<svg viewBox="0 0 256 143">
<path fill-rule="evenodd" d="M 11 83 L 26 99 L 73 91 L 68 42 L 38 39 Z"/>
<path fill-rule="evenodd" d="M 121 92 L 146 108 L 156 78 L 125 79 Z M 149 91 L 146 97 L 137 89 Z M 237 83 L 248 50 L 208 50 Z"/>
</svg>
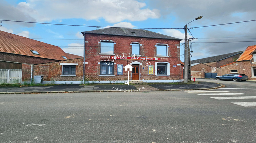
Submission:
<svg viewBox="0 0 256 143">
<path fill-rule="evenodd" d="M 181 39 L 128 28 L 82 32 L 85 40 L 85 78 L 96 83 L 118 83 L 128 78 L 143 82 L 181 82 Z"/>
</svg>

